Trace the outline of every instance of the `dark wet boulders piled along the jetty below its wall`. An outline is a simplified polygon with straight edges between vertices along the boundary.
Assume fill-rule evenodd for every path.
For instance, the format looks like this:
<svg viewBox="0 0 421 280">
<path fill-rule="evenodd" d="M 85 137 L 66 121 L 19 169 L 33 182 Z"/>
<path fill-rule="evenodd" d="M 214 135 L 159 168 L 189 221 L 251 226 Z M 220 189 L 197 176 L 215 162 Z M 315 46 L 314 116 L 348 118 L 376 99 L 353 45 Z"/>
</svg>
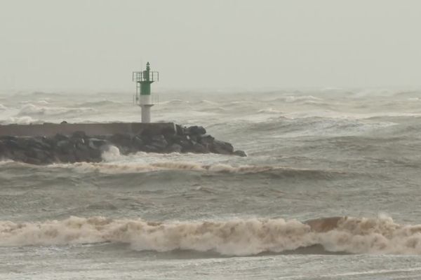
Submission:
<svg viewBox="0 0 421 280">
<path fill-rule="evenodd" d="M 200 126 L 176 125 L 176 132 L 159 134 L 144 131 L 141 134 L 88 135 L 76 131 L 71 135 L 53 137 L 0 137 L 0 160 L 15 160 L 32 165 L 55 162 L 100 162 L 102 153 L 116 146 L 120 153 L 218 153 L 246 156 L 234 151 L 232 144 L 206 134 Z"/>
</svg>

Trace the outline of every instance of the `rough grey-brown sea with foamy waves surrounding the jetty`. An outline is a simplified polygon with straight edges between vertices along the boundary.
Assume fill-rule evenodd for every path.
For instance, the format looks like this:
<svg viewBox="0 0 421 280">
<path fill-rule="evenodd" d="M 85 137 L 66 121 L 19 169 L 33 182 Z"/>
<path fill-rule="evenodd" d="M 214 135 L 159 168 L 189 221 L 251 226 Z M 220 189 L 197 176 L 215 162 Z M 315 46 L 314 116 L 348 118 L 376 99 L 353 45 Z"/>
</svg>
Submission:
<svg viewBox="0 0 421 280">
<path fill-rule="evenodd" d="M 247 153 L 0 161 L 0 279 L 421 279 L 421 90 L 160 90 Z M 0 94 L 0 124 L 139 122 L 130 92 Z M 305 223 L 343 217 L 316 232 Z"/>
</svg>

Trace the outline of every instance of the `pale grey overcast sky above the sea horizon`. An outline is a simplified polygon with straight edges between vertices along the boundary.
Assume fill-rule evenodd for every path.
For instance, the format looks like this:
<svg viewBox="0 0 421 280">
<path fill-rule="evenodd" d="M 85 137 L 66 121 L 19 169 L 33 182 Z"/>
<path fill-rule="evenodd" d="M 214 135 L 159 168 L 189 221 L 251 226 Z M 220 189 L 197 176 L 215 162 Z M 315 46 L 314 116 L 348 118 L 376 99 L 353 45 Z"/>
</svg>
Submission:
<svg viewBox="0 0 421 280">
<path fill-rule="evenodd" d="M 419 0 L 0 0 L 0 90 L 421 85 Z"/>
</svg>

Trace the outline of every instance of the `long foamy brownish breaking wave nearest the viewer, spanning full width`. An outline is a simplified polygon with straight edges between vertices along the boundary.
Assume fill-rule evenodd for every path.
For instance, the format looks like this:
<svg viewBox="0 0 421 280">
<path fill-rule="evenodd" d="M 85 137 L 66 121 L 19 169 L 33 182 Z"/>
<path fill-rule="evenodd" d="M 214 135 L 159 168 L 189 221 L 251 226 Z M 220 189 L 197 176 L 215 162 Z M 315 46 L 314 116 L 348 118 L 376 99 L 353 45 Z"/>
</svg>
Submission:
<svg viewBox="0 0 421 280">
<path fill-rule="evenodd" d="M 214 251 L 222 255 L 282 253 L 322 246 L 328 252 L 420 254 L 421 225 L 392 218 L 234 219 L 156 223 L 140 219 L 70 217 L 63 221 L 0 221 L 0 246 L 113 242 L 138 251 Z"/>
</svg>

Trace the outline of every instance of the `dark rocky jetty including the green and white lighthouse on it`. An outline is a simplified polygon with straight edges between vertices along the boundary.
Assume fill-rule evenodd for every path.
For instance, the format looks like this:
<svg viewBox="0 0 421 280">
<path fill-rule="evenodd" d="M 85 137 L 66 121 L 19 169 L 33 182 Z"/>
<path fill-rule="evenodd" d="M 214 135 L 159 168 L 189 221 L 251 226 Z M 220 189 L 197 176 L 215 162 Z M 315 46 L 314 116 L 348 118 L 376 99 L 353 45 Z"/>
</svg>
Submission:
<svg viewBox="0 0 421 280">
<path fill-rule="evenodd" d="M 218 153 L 246 156 L 232 144 L 206 134 L 201 126 L 185 127 L 175 123 L 151 123 L 154 102 L 151 84 L 159 72 L 132 74 L 136 83 L 133 99 L 142 109 L 142 123 L 44 123 L 0 125 L 0 160 L 15 160 L 33 165 L 54 162 L 100 162 L 102 153 L 116 146 L 129 153 Z"/>
</svg>

